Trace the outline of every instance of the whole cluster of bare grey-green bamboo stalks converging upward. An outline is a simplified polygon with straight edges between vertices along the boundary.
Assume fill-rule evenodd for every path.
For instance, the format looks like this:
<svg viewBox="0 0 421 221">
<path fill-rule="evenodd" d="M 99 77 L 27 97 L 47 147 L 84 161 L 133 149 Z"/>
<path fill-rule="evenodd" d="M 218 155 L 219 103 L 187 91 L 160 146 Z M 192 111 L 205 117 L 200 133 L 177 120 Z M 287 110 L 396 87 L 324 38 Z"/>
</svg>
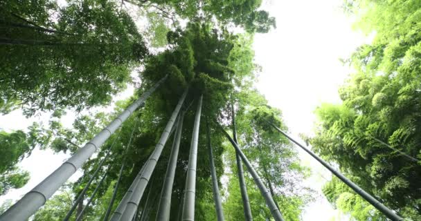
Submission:
<svg viewBox="0 0 421 221">
<path fill-rule="evenodd" d="M 21 200 L 19 200 L 16 204 L 14 204 L 8 211 L 3 213 L 0 216 L 1 221 L 6 220 L 27 220 L 30 215 L 33 215 L 37 209 L 39 209 L 40 206 L 44 205 L 46 200 L 57 191 L 57 189 L 66 182 L 66 180 L 69 179 L 75 171 L 77 171 L 84 162 L 86 162 L 89 157 L 93 153 L 95 153 L 98 148 L 102 144 L 105 143 L 105 141 L 125 122 L 125 120 L 136 111 L 136 109 L 145 102 L 145 100 L 150 97 L 150 95 L 158 88 L 167 76 L 163 77 L 160 81 L 158 81 L 152 88 L 147 90 L 141 97 L 139 97 L 136 102 L 134 102 L 131 106 L 129 106 L 123 113 L 118 115 L 114 121 L 112 121 L 106 128 L 104 128 L 96 137 L 93 137 L 93 139 L 88 142 L 84 147 L 80 148 L 78 152 L 76 152 L 69 160 L 64 162 L 62 166 L 60 166 L 57 170 L 55 170 L 51 175 L 46 177 L 44 181 L 42 181 L 40 184 L 35 186 L 33 190 L 28 192 L 26 195 L 24 195 Z M 183 118 L 184 114 L 186 113 L 186 108 L 183 108 L 184 100 L 186 99 L 186 95 L 188 93 L 188 88 L 184 91 L 184 93 L 181 95 L 179 102 L 177 106 L 174 108 L 174 111 L 172 112 L 172 115 L 168 121 L 168 123 L 165 126 L 165 129 L 161 135 L 161 138 L 159 139 L 158 144 L 156 144 L 156 147 L 150 157 L 147 159 L 143 167 L 138 172 L 138 175 L 136 175 L 134 181 L 132 182 L 131 186 L 129 186 L 129 189 L 126 191 L 125 195 L 123 196 L 123 199 L 120 200 L 117 209 L 111 214 L 111 207 L 114 204 L 116 193 L 118 189 L 118 183 L 120 182 L 121 175 L 123 172 L 123 169 L 125 167 L 125 164 L 123 164 L 120 167 L 120 173 L 118 175 L 118 179 L 116 182 L 116 185 L 114 186 L 114 192 L 111 197 L 111 200 L 109 202 L 109 206 L 107 209 L 107 212 L 105 214 L 104 220 L 108 220 L 110 215 L 110 220 L 117 221 L 117 220 L 123 220 L 123 221 L 130 221 L 133 220 L 134 216 L 136 215 L 136 211 L 138 209 L 138 204 L 141 201 L 141 198 L 143 197 L 143 193 L 145 193 L 145 189 L 147 184 L 150 182 L 152 173 L 154 171 L 154 168 L 156 166 L 156 163 L 159 160 L 159 157 L 161 156 L 161 152 L 163 151 L 163 147 L 165 146 L 165 143 L 168 140 L 168 137 L 170 137 L 171 133 L 175 131 L 174 135 L 174 141 L 172 143 L 172 150 L 170 153 L 170 160 L 168 160 L 168 166 L 165 173 L 165 179 L 163 182 L 163 188 L 161 191 L 161 198 L 159 200 L 159 206 L 158 206 L 158 213 L 156 215 L 156 220 L 170 220 L 170 205 L 171 205 L 171 193 L 172 193 L 172 184 L 174 182 L 174 174 L 175 174 L 175 166 L 177 164 L 177 157 L 179 153 L 179 146 L 180 146 L 180 140 L 181 140 L 181 131 L 183 128 Z M 197 144 L 199 142 L 199 125 L 200 125 L 200 119 L 201 119 L 201 108 L 202 108 L 202 99 L 203 96 L 201 95 L 199 99 L 197 100 L 197 109 L 195 111 L 195 122 L 193 125 L 193 133 L 191 138 L 191 144 L 190 144 L 190 152 L 188 157 L 188 169 L 187 169 L 187 176 L 186 176 L 186 186 L 183 193 L 183 200 L 182 200 L 182 215 L 181 220 L 195 220 L 195 188 L 196 188 L 196 168 L 197 168 Z M 222 130 L 226 138 L 231 142 L 233 147 L 235 148 L 235 155 L 236 155 L 236 162 L 238 166 L 238 178 L 240 182 L 240 190 L 242 195 L 242 202 L 243 202 L 243 208 L 244 208 L 244 217 L 246 220 L 253 220 L 251 215 L 251 209 L 249 204 L 249 197 L 247 195 L 247 189 L 246 185 L 244 184 L 244 171 L 243 166 L 244 165 L 247 168 L 247 171 L 249 171 L 251 177 L 253 177 L 254 182 L 258 186 L 258 189 L 260 190 L 260 193 L 262 194 L 263 198 L 265 198 L 266 204 L 269 207 L 269 210 L 271 211 L 272 216 L 274 217 L 274 220 L 276 221 L 283 221 L 283 216 L 280 213 L 280 209 L 278 204 L 273 199 L 273 193 L 271 191 L 268 191 L 265 184 L 263 184 L 262 179 L 258 175 L 255 169 L 253 169 L 253 166 L 247 160 L 246 155 L 242 153 L 240 147 L 238 146 L 238 140 L 237 140 L 237 133 L 235 129 L 235 111 L 233 106 L 231 106 L 232 112 L 232 133 L 233 136 L 231 137 L 229 133 L 227 133 L 224 128 L 220 125 L 219 128 Z M 268 124 L 271 124 L 268 122 Z M 312 151 L 305 148 L 303 145 L 296 142 L 292 137 L 289 137 L 286 133 L 281 131 L 279 128 L 277 128 L 274 124 L 271 124 L 271 126 L 274 126 L 277 131 L 280 133 L 283 133 L 286 137 L 289 138 L 289 140 L 292 140 L 292 142 L 296 143 L 298 146 L 301 146 L 307 153 L 312 155 L 316 160 L 321 162 L 323 166 L 328 168 L 334 175 L 337 175 L 339 179 L 341 179 L 343 182 L 345 182 L 348 186 L 350 186 L 352 189 L 354 189 L 359 195 L 361 195 L 364 199 L 366 199 L 370 204 L 373 204 L 379 211 L 382 211 L 388 218 L 391 218 L 391 220 L 403 220 L 398 215 L 396 215 L 393 211 L 388 209 L 386 206 L 384 206 L 382 203 L 377 201 L 373 196 L 366 193 L 364 190 L 359 188 L 356 184 L 348 180 L 344 175 L 339 173 L 338 171 L 335 171 L 332 166 L 321 160 L 320 157 L 315 155 Z M 132 132 L 133 133 L 133 132 Z M 132 134 L 133 135 L 133 134 Z M 129 145 L 132 140 L 132 137 L 130 137 Z M 206 144 L 208 146 L 208 155 L 209 155 L 209 161 L 211 166 L 211 177 L 212 177 L 212 184 L 213 184 L 213 198 L 215 200 L 215 211 L 217 213 L 217 219 L 218 220 L 224 220 L 224 213 L 222 211 L 222 203 L 220 198 L 220 191 L 217 184 L 217 175 L 215 172 L 215 164 L 213 162 L 213 151 L 211 146 L 211 135 L 210 135 L 210 128 L 208 124 L 208 119 L 206 119 Z M 127 148 L 128 148 L 127 146 Z M 93 181 L 93 178 L 98 174 L 100 171 L 100 167 L 102 166 L 103 162 L 106 160 L 109 150 L 112 148 L 112 144 L 110 148 L 107 150 L 107 153 L 105 157 L 101 160 L 101 162 L 98 165 L 98 168 L 96 171 L 94 171 L 91 179 L 87 183 L 87 186 L 85 186 L 82 193 L 80 193 L 77 202 L 73 205 L 69 213 L 67 214 L 65 220 L 69 220 L 71 217 L 73 211 L 75 210 L 76 205 L 80 200 L 83 200 L 84 193 L 86 193 L 89 185 Z M 127 149 L 126 149 L 127 151 Z M 93 194 L 91 195 L 91 198 L 89 198 L 87 205 L 84 207 L 84 209 L 89 206 L 89 203 L 95 196 L 96 192 L 99 189 L 100 184 L 102 184 L 102 181 L 105 179 L 105 175 L 107 172 L 105 172 L 102 175 L 102 179 L 98 183 L 98 186 L 93 191 Z M 270 184 L 270 182 L 269 182 Z M 269 189 L 272 187 L 269 186 Z M 149 200 L 149 197 L 147 197 Z M 80 220 L 83 215 L 83 211 L 78 215 L 77 220 Z M 145 216 L 143 216 L 143 219 Z"/>
</svg>

